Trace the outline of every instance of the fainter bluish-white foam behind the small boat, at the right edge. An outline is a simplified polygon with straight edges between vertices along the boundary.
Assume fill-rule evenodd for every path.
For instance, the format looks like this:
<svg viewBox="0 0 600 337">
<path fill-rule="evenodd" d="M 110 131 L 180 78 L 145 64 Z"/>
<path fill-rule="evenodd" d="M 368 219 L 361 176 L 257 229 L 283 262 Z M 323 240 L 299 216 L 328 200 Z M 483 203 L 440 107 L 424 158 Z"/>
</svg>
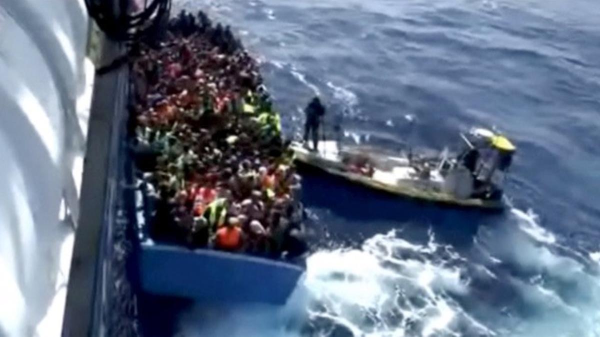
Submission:
<svg viewBox="0 0 600 337">
<path fill-rule="evenodd" d="M 516 275 L 531 275 L 526 279 L 511 275 L 508 282 L 535 314 L 507 331 L 511 336 L 599 336 L 598 276 L 587 272 L 571 253 L 562 254 L 571 250 L 556 243 L 556 234 L 542 227 L 532 210 L 511 213 L 516 221 L 491 230 L 486 247 Z M 600 259 L 600 254 L 589 255 Z"/>
</svg>

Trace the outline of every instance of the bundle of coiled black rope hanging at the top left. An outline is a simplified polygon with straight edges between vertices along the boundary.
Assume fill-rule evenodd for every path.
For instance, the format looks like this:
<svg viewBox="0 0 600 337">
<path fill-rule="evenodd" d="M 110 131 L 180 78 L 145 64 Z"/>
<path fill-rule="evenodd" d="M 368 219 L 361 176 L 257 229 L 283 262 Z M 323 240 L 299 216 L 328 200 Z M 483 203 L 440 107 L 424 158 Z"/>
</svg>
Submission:
<svg viewBox="0 0 600 337">
<path fill-rule="evenodd" d="M 166 24 L 171 0 L 152 0 L 140 13 L 130 14 L 131 0 L 85 0 L 89 15 L 107 37 L 116 41 L 139 40 Z"/>
</svg>

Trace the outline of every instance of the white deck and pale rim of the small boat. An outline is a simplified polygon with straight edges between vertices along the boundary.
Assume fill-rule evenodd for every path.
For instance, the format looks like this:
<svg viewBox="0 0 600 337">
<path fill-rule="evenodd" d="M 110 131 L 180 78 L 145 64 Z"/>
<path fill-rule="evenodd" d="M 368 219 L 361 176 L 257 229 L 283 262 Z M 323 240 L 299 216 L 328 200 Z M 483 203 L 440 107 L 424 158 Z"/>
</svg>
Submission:
<svg viewBox="0 0 600 337">
<path fill-rule="evenodd" d="M 481 198 L 459 199 L 440 190 L 443 177 L 436 169 L 431 170 L 427 179 L 419 177 L 416 167 L 412 166 L 406 157 L 383 154 L 373 148 L 353 146 L 340 150 L 337 142 L 325 140 L 319 143 L 318 151 L 311 151 L 302 143 L 292 143 L 296 162 L 302 167 L 311 167 L 325 171 L 328 174 L 342 177 L 371 189 L 387 192 L 401 197 L 430 201 L 457 207 L 476 207 L 489 210 L 502 210 L 505 206 L 502 200 L 484 200 Z M 371 174 L 352 171 L 344 158 L 368 157 L 373 170 Z M 435 161 L 424 160 L 428 163 Z"/>
</svg>

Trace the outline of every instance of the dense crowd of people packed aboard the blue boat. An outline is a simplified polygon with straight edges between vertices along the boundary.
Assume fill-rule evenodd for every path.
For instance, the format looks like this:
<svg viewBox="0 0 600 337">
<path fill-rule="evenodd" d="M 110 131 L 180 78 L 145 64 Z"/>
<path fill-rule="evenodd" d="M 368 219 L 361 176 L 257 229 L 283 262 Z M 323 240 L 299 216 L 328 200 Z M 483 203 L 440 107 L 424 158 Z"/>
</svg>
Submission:
<svg viewBox="0 0 600 337">
<path fill-rule="evenodd" d="M 307 248 L 301 181 L 257 63 L 229 27 L 181 13 L 131 66 L 136 167 L 149 232 L 270 257 Z"/>
</svg>

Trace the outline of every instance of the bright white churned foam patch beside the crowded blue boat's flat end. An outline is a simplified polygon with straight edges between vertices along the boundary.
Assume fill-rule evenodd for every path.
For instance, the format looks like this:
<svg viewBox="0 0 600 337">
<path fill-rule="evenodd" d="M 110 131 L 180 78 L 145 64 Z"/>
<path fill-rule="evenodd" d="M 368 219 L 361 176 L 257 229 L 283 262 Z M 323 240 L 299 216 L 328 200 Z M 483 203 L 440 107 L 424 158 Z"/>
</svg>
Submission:
<svg viewBox="0 0 600 337">
<path fill-rule="evenodd" d="M 305 285 L 316 301 L 309 312 L 320 335 L 493 335 L 453 299 L 469 291 L 465 260 L 436 243 L 432 231 L 427 245 L 401 234 L 377 234 L 361 249 L 308 259 Z"/>
</svg>

